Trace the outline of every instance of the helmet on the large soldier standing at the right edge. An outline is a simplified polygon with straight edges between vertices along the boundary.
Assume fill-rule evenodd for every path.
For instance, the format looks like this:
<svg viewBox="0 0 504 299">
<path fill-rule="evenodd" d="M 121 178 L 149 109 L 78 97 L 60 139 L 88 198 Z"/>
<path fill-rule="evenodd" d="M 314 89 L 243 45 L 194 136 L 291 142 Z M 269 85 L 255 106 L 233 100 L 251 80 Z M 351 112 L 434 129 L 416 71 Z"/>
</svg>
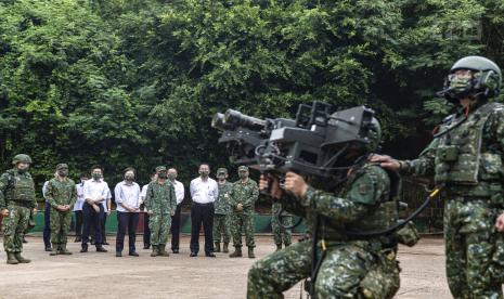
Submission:
<svg viewBox="0 0 504 299">
<path fill-rule="evenodd" d="M 453 88 L 453 74 L 458 69 L 473 72 L 473 79 L 462 88 Z M 482 56 L 466 56 L 453 64 L 450 75 L 444 81 L 443 90 L 438 95 L 444 96 L 449 102 L 458 104 L 458 100 L 466 96 L 488 99 L 500 93 L 502 84 L 502 72 L 499 66 L 489 58 Z"/>
</svg>

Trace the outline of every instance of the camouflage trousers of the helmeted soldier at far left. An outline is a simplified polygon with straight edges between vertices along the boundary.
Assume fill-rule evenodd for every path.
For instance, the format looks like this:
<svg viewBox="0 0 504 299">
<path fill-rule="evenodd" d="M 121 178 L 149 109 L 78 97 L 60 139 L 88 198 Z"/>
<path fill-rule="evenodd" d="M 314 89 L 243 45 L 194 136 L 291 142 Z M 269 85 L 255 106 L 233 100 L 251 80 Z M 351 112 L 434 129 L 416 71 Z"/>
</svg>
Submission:
<svg viewBox="0 0 504 299">
<path fill-rule="evenodd" d="M 9 205 L 8 209 L 9 216 L 3 217 L 3 248 L 7 252 L 22 252 L 30 209 L 17 205 Z"/>
</svg>

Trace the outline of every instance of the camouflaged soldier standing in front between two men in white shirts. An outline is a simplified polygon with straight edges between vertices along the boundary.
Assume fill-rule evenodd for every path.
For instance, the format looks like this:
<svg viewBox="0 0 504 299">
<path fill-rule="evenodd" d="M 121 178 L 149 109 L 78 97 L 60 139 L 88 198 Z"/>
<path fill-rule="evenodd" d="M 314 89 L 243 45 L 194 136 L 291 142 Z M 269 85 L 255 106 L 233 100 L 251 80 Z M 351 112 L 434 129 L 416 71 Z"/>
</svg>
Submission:
<svg viewBox="0 0 504 299">
<path fill-rule="evenodd" d="M 167 180 L 166 167 L 156 167 L 156 173 L 157 180 L 148 184 L 144 202 L 151 229 L 151 257 L 168 257 L 166 243 L 170 233 L 171 217 L 177 209 L 177 197 L 173 185 Z"/>
</svg>

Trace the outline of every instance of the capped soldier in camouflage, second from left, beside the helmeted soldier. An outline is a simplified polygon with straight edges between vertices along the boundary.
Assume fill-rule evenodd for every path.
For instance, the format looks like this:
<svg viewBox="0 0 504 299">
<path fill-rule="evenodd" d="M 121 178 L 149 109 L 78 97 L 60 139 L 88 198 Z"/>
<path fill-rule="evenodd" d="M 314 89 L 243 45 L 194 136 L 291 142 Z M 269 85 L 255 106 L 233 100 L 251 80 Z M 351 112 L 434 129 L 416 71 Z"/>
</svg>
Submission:
<svg viewBox="0 0 504 299">
<path fill-rule="evenodd" d="M 66 249 L 68 230 L 70 229 L 72 209 L 77 200 L 75 182 L 68 179 L 68 166 L 56 166 L 56 178 L 48 183 L 46 198 L 51 206 L 51 243 L 50 256 L 72 255 Z"/>
</svg>

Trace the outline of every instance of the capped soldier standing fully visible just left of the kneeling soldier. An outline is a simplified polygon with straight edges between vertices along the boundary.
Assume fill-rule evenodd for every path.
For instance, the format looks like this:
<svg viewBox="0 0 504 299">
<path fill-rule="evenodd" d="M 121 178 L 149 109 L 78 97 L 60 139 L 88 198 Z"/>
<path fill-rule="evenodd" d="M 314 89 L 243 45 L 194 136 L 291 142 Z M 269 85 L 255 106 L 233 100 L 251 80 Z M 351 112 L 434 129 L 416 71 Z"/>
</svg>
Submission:
<svg viewBox="0 0 504 299">
<path fill-rule="evenodd" d="M 233 235 L 234 252 L 230 258 L 242 257 L 242 230 L 245 232 L 245 239 L 248 247 L 248 257 L 254 259 L 254 210 L 259 187 L 257 183 L 248 178 L 248 167 L 238 167 L 240 180 L 233 184 L 231 190 L 230 205 L 233 209 L 231 213 L 231 234 Z"/>
</svg>

